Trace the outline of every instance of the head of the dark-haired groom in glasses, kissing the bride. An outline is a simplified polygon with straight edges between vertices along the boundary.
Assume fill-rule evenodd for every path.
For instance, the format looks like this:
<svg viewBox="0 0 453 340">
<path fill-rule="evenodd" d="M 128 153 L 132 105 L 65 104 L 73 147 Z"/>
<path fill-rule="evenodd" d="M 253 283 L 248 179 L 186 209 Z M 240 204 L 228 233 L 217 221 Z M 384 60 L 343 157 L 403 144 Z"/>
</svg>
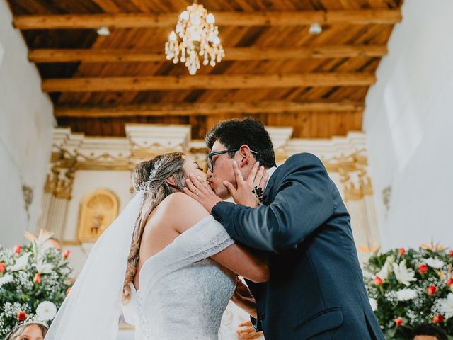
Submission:
<svg viewBox="0 0 453 340">
<path fill-rule="evenodd" d="M 220 198 L 229 197 L 229 191 L 223 181 L 229 181 L 236 186 L 233 161 L 238 163 L 244 179 L 257 161 L 266 169 L 275 166 L 272 141 L 264 125 L 258 120 L 246 118 L 220 122 L 207 133 L 205 142 L 210 149 L 207 177 L 212 190 Z M 216 154 L 226 150 L 234 151 Z"/>
</svg>

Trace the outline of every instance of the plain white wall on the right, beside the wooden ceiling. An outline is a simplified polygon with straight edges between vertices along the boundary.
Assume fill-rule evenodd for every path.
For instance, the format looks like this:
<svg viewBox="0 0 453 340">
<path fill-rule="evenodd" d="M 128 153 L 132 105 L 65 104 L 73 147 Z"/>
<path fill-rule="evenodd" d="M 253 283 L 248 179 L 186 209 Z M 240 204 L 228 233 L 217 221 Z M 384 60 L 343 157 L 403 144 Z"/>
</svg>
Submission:
<svg viewBox="0 0 453 340">
<path fill-rule="evenodd" d="M 453 246 L 453 1 L 404 1 L 402 14 L 363 127 L 383 245 Z"/>
</svg>

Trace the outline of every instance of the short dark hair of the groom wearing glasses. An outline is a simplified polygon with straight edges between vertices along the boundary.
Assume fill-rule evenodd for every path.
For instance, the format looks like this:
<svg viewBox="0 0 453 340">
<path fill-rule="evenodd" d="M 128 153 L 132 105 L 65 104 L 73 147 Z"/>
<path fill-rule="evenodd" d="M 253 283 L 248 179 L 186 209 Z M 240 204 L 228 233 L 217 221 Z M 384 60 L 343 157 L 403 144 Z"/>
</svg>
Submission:
<svg viewBox="0 0 453 340">
<path fill-rule="evenodd" d="M 214 142 L 219 140 L 227 149 L 236 149 L 241 145 L 248 145 L 251 150 L 258 152 L 253 154 L 260 165 L 270 168 L 275 166 L 275 154 L 269 133 L 260 121 L 253 118 L 230 119 L 217 123 L 207 132 L 206 145 L 212 149 Z M 234 152 L 229 153 L 234 157 Z"/>
</svg>

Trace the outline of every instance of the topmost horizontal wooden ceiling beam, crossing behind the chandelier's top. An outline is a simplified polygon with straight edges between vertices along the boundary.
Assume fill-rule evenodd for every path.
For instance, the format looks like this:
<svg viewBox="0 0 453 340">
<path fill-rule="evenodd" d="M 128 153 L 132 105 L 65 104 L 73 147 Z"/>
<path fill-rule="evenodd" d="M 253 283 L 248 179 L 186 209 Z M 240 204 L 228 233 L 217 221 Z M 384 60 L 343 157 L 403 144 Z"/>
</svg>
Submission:
<svg viewBox="0 0 453 340">
<path fill-rule="evenodd" d="M 144 28 L 176 25 L 180 13 L 103 13 L 103 14 L 33 14 L 14 16 L 13 25 L 21 30 L 71 28 Z M 399 9 L 355 11 L 263 11 L 214 12 L 219 26 L 302 26 L 311 23 L 331 25 L 394 24 L 401 21 Z"/>
</svg>

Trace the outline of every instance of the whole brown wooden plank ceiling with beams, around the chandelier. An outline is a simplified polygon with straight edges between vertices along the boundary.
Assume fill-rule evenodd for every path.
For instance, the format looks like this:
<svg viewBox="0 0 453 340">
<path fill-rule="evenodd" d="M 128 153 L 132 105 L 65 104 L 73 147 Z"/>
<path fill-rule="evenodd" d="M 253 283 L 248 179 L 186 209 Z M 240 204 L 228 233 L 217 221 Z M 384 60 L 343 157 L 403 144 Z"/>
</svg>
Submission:
<svg viewBox="0 0 453 340">
<path fill-rule="evenodd" d="M 200 0 L 226 57 L 190 76 L 165 59 L 164 44 L 192 1 L 8 0 L 60 126 L 124 136 L 125 123 L 190 124 L 193 138 L 247 115 L 292 126 L 293 137 L 362 130 L 401 2 Z M 319 35 L 308 31 L 315 22 Z"/>
</svg>

